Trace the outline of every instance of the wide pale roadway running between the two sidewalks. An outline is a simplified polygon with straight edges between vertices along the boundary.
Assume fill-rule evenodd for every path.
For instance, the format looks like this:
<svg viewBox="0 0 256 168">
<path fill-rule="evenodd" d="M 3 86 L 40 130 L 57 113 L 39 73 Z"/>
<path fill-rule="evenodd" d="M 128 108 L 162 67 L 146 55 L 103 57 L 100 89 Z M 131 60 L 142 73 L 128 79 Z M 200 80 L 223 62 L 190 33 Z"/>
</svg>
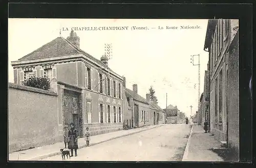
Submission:
<svg viewBox="0 0 256 168">
<path fill-rule="evenodd" d="M 186 124 L 165 124 L 79 149 L 77 157 L 65 161 L 181 161 L 190 129 Z M 41 161 L 62 158 L 55 155 Z"/>
</svg>

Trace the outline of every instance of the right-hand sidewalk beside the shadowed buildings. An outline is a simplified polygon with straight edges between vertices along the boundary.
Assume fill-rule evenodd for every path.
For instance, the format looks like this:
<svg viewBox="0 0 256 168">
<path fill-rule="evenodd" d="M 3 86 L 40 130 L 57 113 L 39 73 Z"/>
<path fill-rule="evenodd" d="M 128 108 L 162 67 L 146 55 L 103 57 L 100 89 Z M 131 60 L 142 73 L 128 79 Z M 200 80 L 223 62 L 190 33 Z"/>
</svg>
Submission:
<svg viewBox="0 0 256 168">
<path fill-rule="evenodd" d="M 203 126 L 193 124 L 182 161 L 224 161 L 209 150 L 220 146 L 221 143 L 211 133 L 204 133 Z"/>
</svg>

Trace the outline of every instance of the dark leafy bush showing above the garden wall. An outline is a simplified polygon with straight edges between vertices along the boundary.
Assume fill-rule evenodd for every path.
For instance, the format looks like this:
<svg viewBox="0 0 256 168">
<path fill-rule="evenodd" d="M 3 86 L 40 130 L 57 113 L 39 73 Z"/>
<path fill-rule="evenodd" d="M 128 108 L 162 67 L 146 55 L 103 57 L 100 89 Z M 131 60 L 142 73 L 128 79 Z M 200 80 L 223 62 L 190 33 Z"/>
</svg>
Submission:
<svg viewBox="0 0 256 168">
<path fill-rule="evenodd" d="M 46 76 L 44 77 L 31 76 L 23 82 L 23 85 L 28 87 L 33 87 L 33 88 L 49 90 L 50 83 L 51 83 L 50 79 Z"/>
</svg>

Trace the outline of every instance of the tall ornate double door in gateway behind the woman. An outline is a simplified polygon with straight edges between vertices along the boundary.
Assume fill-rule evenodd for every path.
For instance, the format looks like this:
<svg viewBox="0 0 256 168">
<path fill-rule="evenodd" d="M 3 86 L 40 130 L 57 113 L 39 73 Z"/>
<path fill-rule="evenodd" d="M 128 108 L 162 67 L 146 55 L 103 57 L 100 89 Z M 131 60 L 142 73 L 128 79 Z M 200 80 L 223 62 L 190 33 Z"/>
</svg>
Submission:
<svg viewBox="0 0 256 168">
<path fill-rule="evenodd" d="M 79 125 L 79 94 L 72 91 L 64 91 L 62 107 L 64 108 L 64 119 L 63 123 L 69 125 L 74 123 L 75 128 L 80 134 L 81 126 Z"/>
</svg>

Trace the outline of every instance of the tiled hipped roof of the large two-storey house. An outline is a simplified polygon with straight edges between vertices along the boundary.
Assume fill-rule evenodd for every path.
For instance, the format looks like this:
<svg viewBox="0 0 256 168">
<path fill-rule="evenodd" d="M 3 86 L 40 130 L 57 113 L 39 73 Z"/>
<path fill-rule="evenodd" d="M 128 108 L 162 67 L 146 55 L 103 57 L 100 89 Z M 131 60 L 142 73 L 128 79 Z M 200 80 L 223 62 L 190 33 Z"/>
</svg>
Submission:
<svg viewBox="0 0 256 168">
<path fill-rule="evenodd" d="M 20 61 L 31 60 L 31 59 L 40 59 L 40 58 L 50 58 L 58 55 L 73 54 L 80 52 L 79 49 L 74 47 L 68 40 L 58 37 L 51 42 L 41 46 L 35 51 L 25 55 L 23 58 L 20 58 Z"/>
</svg>

